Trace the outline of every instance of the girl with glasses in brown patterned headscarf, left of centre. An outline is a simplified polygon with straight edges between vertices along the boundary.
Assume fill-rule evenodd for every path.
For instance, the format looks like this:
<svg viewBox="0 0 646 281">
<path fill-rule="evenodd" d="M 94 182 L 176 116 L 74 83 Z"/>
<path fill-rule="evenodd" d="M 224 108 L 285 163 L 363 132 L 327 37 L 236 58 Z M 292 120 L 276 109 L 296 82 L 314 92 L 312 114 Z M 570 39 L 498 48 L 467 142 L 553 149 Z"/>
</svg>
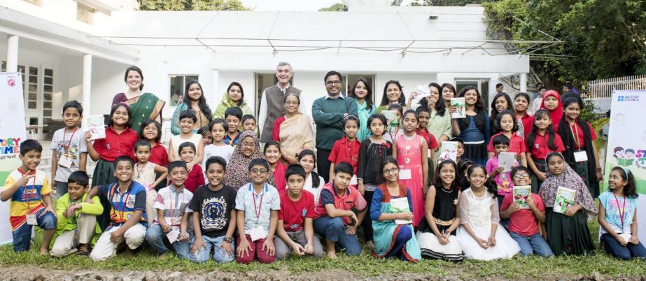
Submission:
<svg viewBox="0 0 646 281">
<path fill-rule="evenodd" d="M 227 174 L 224 178 L 224 184 L 238 190 L 241 186 L 249 182 L 248 166 L 252 159 L 262 158 L 265 156 L 260 152 L 258 147 L 258 138 L 253 131 L 244 131 L 240 134 L 240 144 L 231 156 L 227 164 Z M 276 186 L 274 173 L 269 173 L 267 177 L 269 185 Z"/>
</svg>

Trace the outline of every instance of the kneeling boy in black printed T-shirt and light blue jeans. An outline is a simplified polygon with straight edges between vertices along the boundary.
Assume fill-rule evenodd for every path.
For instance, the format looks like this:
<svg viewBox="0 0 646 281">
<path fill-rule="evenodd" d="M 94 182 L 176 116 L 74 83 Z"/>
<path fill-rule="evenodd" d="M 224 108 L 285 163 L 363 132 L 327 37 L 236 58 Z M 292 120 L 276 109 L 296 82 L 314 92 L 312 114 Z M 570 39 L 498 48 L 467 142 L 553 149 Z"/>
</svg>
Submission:
<svg viewBox="0 0 646 281">
<path fill-rule="evenodd" d="M 190 201 L 195 240 L 188 259 L 198 264 L 211 259 L 218 263 L 235 259 L 233 234 L 236 228 L 236 190 L 223 184 L 227 162 L 219 156 L 206 160 L 208 185 L 197 187 Z"/>
</svg>

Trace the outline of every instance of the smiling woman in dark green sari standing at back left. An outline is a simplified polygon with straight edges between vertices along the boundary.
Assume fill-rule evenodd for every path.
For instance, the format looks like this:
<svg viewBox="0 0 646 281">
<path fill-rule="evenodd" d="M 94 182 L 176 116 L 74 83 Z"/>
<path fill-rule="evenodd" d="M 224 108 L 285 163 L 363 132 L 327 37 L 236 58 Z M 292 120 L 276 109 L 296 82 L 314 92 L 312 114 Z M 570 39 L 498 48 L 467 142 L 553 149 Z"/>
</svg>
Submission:
<svg viewBox="0 0 646 281">
<path fill-rule="evenodd" d="M 119 93 L 112 99 L 112 106 L 119 103 L 125 103 L 130 106 L 132 110 L 132 126 L 130 129 L 139 131 L 141 123 L 148 119 L 156 120 L 162 123 L 162 109 L 166 101 L 157 98 L 155 94 L 142 93 L 143 89 L 143 73 L 141 69 L 136 66 L 130 66 L 125 70 L 125 77 L 123 78 L 128 91 Z"/>
</svg>

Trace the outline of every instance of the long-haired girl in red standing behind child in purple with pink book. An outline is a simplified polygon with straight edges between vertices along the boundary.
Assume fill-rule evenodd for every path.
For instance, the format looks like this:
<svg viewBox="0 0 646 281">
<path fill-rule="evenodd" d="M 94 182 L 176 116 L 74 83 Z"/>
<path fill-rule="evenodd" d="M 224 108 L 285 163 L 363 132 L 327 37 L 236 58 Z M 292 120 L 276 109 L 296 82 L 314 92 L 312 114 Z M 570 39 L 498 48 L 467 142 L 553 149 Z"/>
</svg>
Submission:
<svg viewBox="0 0 646 281">
<path fill-rule="evenodd" d="M 496 122 L 494 122 L 494 124 L 496 125 L 496 127 L 498 127 L 498 130 L 500 130 L 500 132 L 491 136 L 491 140 L 489 141 L 489 145 L 487 145 L 486 149 L 487 151 L 489 151 L 488 154 L 489 158 L 491 159 L 491 157 L 497 155 L 496 149 L 493 147 L 493 138 L 501 135 L 506 136 L 510 140 L 510 144 L 507 145 L 507 151 L 516 153 L 516 160 L 526 167 L 527 159 L 525 155 L 525 141 L 524 138 L 518 134 L 519 123 L 515 120 L 516 117 L 514 117 L 513 113 L 510 110 L 505 110 L 501 113 L 498 113 L 498 115 L 496 115 Z"/>
</svg>

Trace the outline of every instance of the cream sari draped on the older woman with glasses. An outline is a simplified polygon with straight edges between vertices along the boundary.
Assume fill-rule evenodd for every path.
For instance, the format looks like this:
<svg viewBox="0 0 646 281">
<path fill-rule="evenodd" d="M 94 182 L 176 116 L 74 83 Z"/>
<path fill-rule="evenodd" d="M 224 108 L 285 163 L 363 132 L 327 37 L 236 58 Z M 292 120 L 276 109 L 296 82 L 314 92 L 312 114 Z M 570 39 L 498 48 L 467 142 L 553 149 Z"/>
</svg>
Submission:
<svg viewBox="0 0 646 281">
<path fill-rule="evenodd" d="M 311 131 L 309 117 L 297 113 L 287 117 L 281 123 L 280 134 L 281 153 L 295 156 L 304 149 L 314 150 L 314 133 Z"/>
</svg>

